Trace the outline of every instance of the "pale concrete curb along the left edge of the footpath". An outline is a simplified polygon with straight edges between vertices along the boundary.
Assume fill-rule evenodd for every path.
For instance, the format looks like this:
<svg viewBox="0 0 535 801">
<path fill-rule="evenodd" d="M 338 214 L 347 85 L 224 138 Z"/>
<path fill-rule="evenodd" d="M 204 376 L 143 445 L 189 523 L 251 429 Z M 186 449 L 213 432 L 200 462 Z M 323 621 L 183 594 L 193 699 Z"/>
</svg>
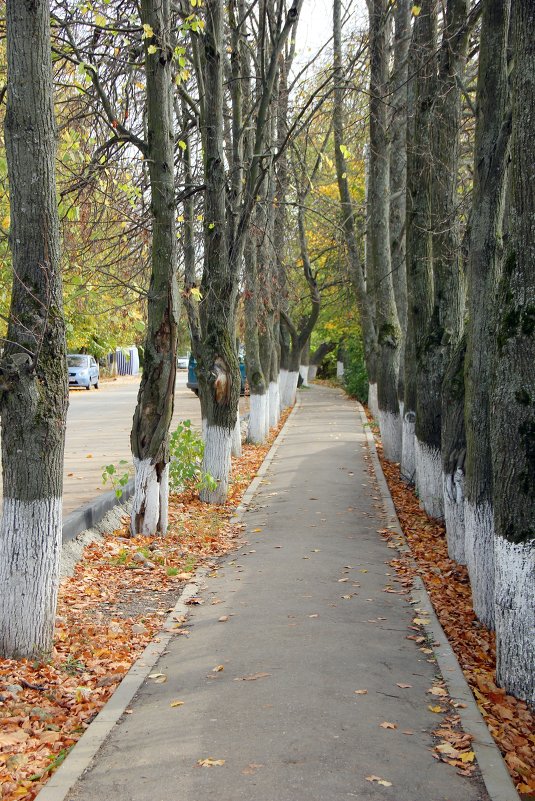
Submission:
<svg viewBox="0 0 535 801">
<path fill-rule="evenodd" d="M 230 520 L 232 524 L 237 524 L 242 521 L 242 517 L 247 511 L 251 499 L 263 480 L 284 438 L 288 423 L 298 410 L 299 405 L 299 400 L 297 400 L 273 445 L 266 454 L 264 461 L 260 465 L 256 476 L 245 490 L 236 512 Z M 141 656 L 136 659 L 109 701 L 107 701 L 96 718 L 89 724 L 64 762 L 55 773 L 52 774 L 43 789 L 37 793 L 35 801 L 64 801 L 69 791 L 91 765 L 91 762 L 96 757 L 113 727 L 122 715 L 124 715 L 125 710 L 128 708 L 135 694 L 166 650 L 174 634 L 172 626 L 175 616 L 177 614 L 185 615 L 190 612 L 187 601 L 197 594 L 206 576 L 206 572 L 205 569 L 199 570 L 192 581 L 184 587 L 173 611 L 168 615 L 163 628 L 149 642 Z M 506 801 L 509 801 L 509 799 L 506 799 Z"/>
</svg>

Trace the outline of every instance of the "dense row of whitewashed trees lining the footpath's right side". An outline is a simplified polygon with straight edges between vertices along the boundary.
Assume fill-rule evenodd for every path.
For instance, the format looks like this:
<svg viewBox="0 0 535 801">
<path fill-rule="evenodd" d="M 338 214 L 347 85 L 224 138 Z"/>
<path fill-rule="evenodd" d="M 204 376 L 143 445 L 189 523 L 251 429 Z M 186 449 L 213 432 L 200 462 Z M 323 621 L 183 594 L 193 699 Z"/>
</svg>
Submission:
<svg viewBox="0 0 535 801">
<path fill-rule="evenodd" d="M 524 0 L 370 2 L 369 258 L 355 281 L 385 456 L 445 519 L 496 628 L 498 680 L 531 703 L 534 32 Z"/>
</svg>

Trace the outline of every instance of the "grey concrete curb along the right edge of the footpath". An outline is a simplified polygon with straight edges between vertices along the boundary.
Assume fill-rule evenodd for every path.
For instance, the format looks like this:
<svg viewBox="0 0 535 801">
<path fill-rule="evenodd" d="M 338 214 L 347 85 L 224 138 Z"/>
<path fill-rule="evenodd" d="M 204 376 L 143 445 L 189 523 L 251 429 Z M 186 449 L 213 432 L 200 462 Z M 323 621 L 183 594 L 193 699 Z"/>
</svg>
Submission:
<svg viewBox="0 0 535 801">
<path fill-rule="evenodd" d="M 396 514 L 394 501 L 392 500 L 388 484 L 386 483 L 386 478 L 377 455 L 375 439 L 370 431 L 364 409 L 360 403 L 357 404 L 357 407 L 366 434 L 366 440 L 371 454 L 377 483 L 379 484 L 383 505 L 388 516 L 388 528 L 395 531 L 403 540 L 403 544 L 400 544 L 398 549 L 401 552 L 411 553 Z M 429 618 L 429 623 L 426 623 L 424 628 L 429 633 L 432 642 L 438 645 L 438 647 L 433 648 L 433 653 L 450 697 L 455 701 L 466 704 L 466 708 L 457 708 L 456 712 L 461 718 L 463 729 L 474 738 L 472 747 L 476 754 L 481 777 L 490 798 L 492 801 L 520 801 L 520 796 L 516 791 L 498 746 L 492 739 L 487 725 L 477 707 L 472 691 L 457 661 L 457 657 L 449 644 L 444 629 L 435 615 L 431 599 L 419 576 L 416 576 L 414 579 L 412 600 L 416 602 L 419 609 L 426 610 L 425 614 Z"/>
</svg>

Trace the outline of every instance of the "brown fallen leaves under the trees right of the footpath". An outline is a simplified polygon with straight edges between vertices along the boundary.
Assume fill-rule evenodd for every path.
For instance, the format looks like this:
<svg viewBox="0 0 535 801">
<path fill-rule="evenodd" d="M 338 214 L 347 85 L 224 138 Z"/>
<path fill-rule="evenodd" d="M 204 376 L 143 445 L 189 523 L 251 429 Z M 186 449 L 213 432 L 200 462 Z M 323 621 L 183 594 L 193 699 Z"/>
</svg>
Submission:
<svg viewBox="0 0 535 801">
<path fill-rule="evenodd" d="M 377 450 L 401 528 L 412 552 L 412 558 L 408 554 L 401 555 L 390 564 L 406 587 L 410 586 L 415 574 L 423 580 L 518 792 L 532 796 L 535 794 L 535 716 L 525 701 L 507 695 L 496 685 L 494 634 L 475 616 L 468 571 L 448 557 L 444 526 L 420 508 L 414 490 L 401 478 L 399 465 L 383 458 L 380 441 Z M 395 532 L 384 529 L 381 533 L 391 545 L 396 544 Z M 446 742 L 444 755 L 449 752 L 455 759 L 452 749 L 462 752 L 458 747 L 461 743 L 459 735 L 457 733 L 453 738 L 451 734 L 445 736 L 443 730 L 442 724 L 435 734 Z M 450 725 L 447 730 L 451 732 Z"/>
</svg>

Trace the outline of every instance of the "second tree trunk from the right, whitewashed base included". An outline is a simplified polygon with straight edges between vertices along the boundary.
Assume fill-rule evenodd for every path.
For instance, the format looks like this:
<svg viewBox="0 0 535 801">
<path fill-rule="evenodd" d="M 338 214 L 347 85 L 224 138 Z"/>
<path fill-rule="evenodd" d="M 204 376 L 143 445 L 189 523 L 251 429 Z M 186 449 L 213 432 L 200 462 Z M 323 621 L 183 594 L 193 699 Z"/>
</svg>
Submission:
<svg viewBox="0 0 535 801">
<path fill-rule="evenodd" d="M 474 189 L 468 258 L 465 360 L 465 552 L 474 610 L 494 625 L 494 521 L 490 385 L 510 118 L 507 46 L 510 0 L 486 0 L 481 23 Z"/>
</svg>

